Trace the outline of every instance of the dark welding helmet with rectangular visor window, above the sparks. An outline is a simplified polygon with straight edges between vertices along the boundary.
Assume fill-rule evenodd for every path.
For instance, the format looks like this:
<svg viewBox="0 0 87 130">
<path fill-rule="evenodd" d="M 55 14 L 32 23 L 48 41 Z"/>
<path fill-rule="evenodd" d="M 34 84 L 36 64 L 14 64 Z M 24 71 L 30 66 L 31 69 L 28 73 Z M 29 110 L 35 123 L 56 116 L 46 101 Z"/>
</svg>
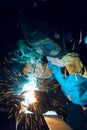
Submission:
<svg viewBox="0 0 87 130">
<path fill-rule="evenodd" d="M 68 44 L 72 35 L 65 33 L 49 8 L 45 1 L 24 6 L 20 11 L 20 23 L 28 45 L 39 47 L 46 56 L 61 58 L 72 49 L 72 44 L 71 47 Z"/>
</svg>

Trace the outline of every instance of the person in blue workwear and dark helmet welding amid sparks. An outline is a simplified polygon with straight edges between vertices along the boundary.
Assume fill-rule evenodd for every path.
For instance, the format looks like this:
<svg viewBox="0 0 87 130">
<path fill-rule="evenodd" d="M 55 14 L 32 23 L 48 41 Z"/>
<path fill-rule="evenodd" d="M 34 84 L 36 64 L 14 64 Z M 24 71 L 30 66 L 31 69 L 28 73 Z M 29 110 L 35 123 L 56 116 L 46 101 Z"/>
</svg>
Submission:
<svg viewBox="0 0 87 130">
<path fill-rule="evenodd" d="M 68 26 L 55 24 L 43 13 L 44 6 L 34 3 L 20 11 L 20 22 L 24 37 L 30 47 L 39 48 L 48 60 L 54 77 L 62 86 L 65 96 L 75 104 L 87 105 L 87 71 L 81 61 L 75 41 Z M 82 34 L 81 34 L 82 35 Z M 77 47 L 78 48 L 78 47 Z M 74 70 L 73 70 L 74 69 Z M 73 70 L 73 71 L 72 71 Z"/>
</svg>

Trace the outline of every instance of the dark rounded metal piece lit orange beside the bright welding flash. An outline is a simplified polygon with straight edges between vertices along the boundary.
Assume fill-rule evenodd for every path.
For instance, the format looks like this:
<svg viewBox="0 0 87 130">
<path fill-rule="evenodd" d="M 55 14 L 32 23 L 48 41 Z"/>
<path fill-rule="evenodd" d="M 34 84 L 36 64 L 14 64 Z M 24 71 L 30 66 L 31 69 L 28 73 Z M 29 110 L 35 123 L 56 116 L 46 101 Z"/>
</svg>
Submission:
<svg viewBox="0 0 87 130">
<path fill-rule="evenodd" d="M 46 93 L 41 91 L 34 91 L 36 102 L 29 105 L 28 109 L 36 114 L 43 114 L 47 112 L 50 107 L 50 99 Z"/>
</svg>

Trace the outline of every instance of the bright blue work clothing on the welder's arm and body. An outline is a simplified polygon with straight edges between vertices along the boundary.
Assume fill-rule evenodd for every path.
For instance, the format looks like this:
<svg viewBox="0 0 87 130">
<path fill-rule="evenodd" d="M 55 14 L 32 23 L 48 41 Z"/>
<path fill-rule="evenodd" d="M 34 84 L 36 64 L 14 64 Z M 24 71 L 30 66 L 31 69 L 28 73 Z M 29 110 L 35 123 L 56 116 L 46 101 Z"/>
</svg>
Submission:
<svg viewBox="0 0 87 130">
<path fill-rule="evenodd" d="M 79 75 L 67 75 L 64 76 L 61 69 L 63 67 L 55 66 L 51 62 L 48 62 L 49 68 L 53 71 L 55 78 L 62 86 L 62 92 L 67 98 L 78 105 L 87 105 L 87 78 Z"/>
</svg>

